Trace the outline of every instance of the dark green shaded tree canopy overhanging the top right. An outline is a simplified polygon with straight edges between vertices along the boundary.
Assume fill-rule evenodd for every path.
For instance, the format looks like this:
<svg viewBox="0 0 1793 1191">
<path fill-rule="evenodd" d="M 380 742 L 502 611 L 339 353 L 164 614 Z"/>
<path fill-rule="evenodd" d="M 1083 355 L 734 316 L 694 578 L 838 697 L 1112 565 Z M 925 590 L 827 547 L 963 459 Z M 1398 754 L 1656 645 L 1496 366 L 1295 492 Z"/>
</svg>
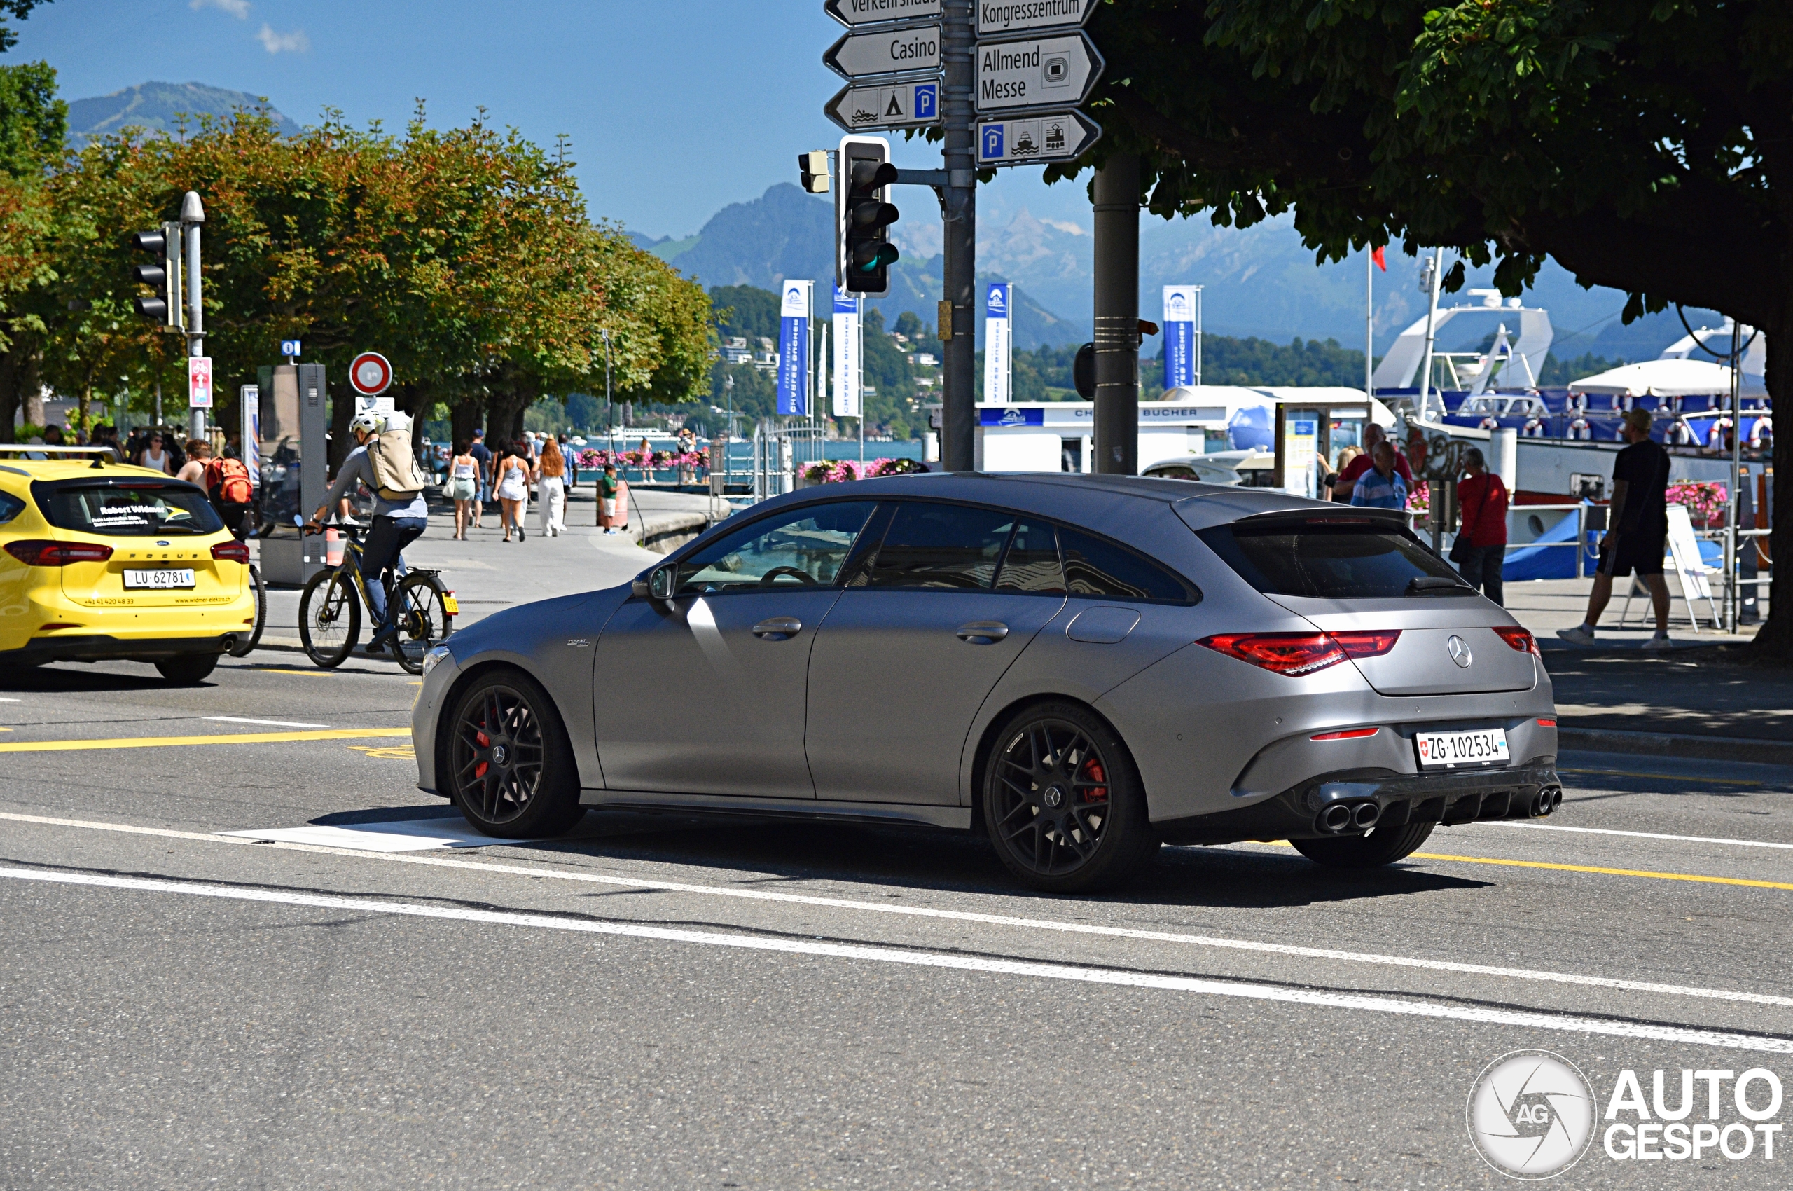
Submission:
<svg viewBox="0 0 1793 1191">
<path fill-rule="evenodd" d="M 1293 212 L 1321 260 L 1445 246 L 1452 291 L 1497 262 L 1517 294 L 1551 256 L 1626 291 L 1626 317 L 1763 328 L 1793 402 L 1786 0 L 1130 0 L 1090 30 L 1096 156 L 1142 154 L 1153 212 Z M 1793 472 L 1793 436 L 1775 465 Z M 1773 524 L 1793 554 L 1788 484 Z M 1771 603 L 1763 640 L 1793 651 L 1793 570 Z"/>
</svg>

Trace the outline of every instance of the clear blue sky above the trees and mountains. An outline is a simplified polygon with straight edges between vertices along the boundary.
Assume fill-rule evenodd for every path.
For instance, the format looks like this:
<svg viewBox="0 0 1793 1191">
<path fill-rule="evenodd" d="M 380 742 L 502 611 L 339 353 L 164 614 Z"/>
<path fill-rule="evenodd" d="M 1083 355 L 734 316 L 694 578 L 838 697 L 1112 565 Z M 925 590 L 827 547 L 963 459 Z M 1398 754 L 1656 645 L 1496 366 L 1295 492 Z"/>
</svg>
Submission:
<svg viewBox="0 0 1793 1191">
<path fill-rule="evenodd" d="M 821 115 L 841 86 L 821 54 L 843 29 L 821 0 L 56 0 L 14 27 L 9 61 L 48 61 L 66 99 L 206 83 L 301 124 L 328 106 L 396 127 L 421 97 L 443 126 L 484 106 L 543 145 L 567 133 L 593 213 L 647 235 L 690 235 L 796 181 L 796 154 L 841 135 Z M 896 156 L 940 163 L 920 143 Z M 1002 222 L 1020 204 L 1088 222 L 1081 187 L 1038 170 L 1008 170 L 979 203 Z"/>
</svg>

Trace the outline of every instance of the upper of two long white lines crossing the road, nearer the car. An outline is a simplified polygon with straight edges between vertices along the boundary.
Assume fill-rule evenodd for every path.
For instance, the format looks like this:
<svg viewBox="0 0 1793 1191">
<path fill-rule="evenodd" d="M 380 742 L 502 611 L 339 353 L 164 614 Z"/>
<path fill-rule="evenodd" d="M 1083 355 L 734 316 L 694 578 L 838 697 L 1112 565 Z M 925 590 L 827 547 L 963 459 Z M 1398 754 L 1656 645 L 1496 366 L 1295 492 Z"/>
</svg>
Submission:
<svg viewBox="0 0 1793 1191">
<path fill-rule="evenodd" d="M 38 814 L 7 814 L 0 820 L 18 823 L 41 823 L 47 827 L 81 827 L 86 830 L 117 830 L 133 836 L 161 836 L 167 839 L 197 839 L 201 843 L 256 843 L 228 834 L 201 834 L 190 830 L 169 830 L 163 827 L 131 827 L 126 823 L 95 823 L 88 820 L 47 818 Z M 1553 985 L 1580 985 L 1585 988 L 1619 988 L 1624 992 L 1653 992 L 1671 997 L 1702 997 L 1707 1001 L 1737 1001 L 1745 1004 L 1793 1006 L 1793 997 L 1777 997 L 1764 992 L 1739 992 L 1734 988 L 1700 988 L 1693 985 L 1657 985 L 1639 979 L 1614 979 L 1610 976 L 1581 976 L 1578 972 L 1547 972 L 1537 969 L 1492 967 L 1486 963 L 1458 963 L 1454 960 L 1416 960 L 1411 956 L 1384 956 L 1363 951 L 1332 951 L 1327 947 L 1298 947 L 1295 943 L 1262 943 L 1246 938 L 1219 938 L 1212 935 L 1176 935 L 1169 931 L 1140 931 L 1121 926 L 1090 926 L 1087 922 L 1056 922 L 1051 918 L 1015 918 L 1009 915 L 986 915 L 972 909 L 936 909 L 931 906 L 891 906 L 882 902 L 855 902 L 843 897 L 816 897 L 810 893 L 776 893 L 771 890 L 739 890 L 714 884 L 689 884 L 683 881 L 656 881 L 653 877 L 624 877 L 597 872 L 567 872 L 554 868 L 525 868 L 522 865 L 498 865 L 491 861 L 459 861 L 439 856 L 398 856 L 389 852 L 366 852 L 351 848 L 328 848 L 310 843 L 256 843 L 256 847 L 326 852 L 342 856 L 344 852 L 362 859 L 382 859 L 398 865 L 434 865 L 437 868 L 466 868 L 470 872 L 506 874 L 516 877 L 549 877 L 554 881 L 579 881 L 588 884 L 611 884 L 631 890 L 665 890 L 669 893 L 696 893 L 703 897 L 733 897 L 751 902 L 784 902 L 793 906 L 819 906 L 825 909 L 855 909 L 864 913 L 898 915 L 913 918 L 945 918 L 950 922 L 979 922 L 984 926 L 1011 926 L 1027 931 L 1058 931 L 1063 935 L 1094 935 L 1101 938 L 1131 938 L 1151 943 L 1182 943 L 1189 947 L 1217 947 L 1226 951 L 1250 951 L 1275 956 L 1298 956 L 1304 960 L 1338 960 L 1343 963 L 1377 963 L 1384 967 L 1422 969 L 1429 972 L 1461 972 L 1465 976 L 1501 976 L 1506 979 L 1531 979 Z"/>
</svg>

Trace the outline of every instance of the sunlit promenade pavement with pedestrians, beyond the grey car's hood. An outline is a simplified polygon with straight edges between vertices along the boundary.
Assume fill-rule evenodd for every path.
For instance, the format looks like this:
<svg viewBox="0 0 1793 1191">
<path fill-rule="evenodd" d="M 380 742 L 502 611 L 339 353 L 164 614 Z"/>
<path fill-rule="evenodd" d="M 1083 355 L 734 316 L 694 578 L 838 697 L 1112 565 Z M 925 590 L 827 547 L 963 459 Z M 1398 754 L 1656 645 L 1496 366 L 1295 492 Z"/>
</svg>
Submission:
<svg viewBox="0 0 1793 1191">
<path fill-rule="evenodd" d="M 498 506 L 488 504 L 481 524 L 468 529 L 466 542 L 454 538 L 454 504 L 430 504 L 430 527 L 409 549 L 405 561 L 443 572 L 443 581 L 461 603 L 455 628 L 466 628 L 511 604 L 525 604 L 572 592 L 595 592 L 628 583 L 647 570 L 681 542 L 708 524 L 710 499 L 680 491 L 633 491 L 629 529 L 604 535 L 595 526 L 597 502 L 586 481 L 567 502 L 567 533 L 547 538 L 538 531 L 534 504 L 524 518 L 522 542 L 504 542 Z M 721 513 L 721 509 L 717 509 Z M 640 540 L 658 547 L 644 549 Z M 371 628 L 362 624 L 360 639 Z M 299 649 L 299 590 L 280 588 L 267 594 L 267 626 L 262 649 Z"/>
</svg>

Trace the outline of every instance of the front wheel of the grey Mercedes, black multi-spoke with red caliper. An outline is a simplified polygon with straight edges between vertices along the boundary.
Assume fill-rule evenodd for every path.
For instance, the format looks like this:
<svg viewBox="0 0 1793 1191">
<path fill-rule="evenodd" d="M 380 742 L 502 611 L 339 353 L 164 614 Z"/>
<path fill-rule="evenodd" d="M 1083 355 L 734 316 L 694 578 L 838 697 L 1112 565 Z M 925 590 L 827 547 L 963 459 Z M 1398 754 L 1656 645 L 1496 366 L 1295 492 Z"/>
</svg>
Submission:
<svg viewBox="0 0 1793 1191">
<path fill-rule="evenodd" d="M 527 674 L 481 676 L 443 721 L 443 786 L 488 836 L 559 836 L 585 814 L 572 746 L 547 692 Z"/>
</svg>

